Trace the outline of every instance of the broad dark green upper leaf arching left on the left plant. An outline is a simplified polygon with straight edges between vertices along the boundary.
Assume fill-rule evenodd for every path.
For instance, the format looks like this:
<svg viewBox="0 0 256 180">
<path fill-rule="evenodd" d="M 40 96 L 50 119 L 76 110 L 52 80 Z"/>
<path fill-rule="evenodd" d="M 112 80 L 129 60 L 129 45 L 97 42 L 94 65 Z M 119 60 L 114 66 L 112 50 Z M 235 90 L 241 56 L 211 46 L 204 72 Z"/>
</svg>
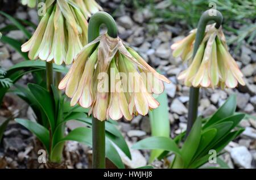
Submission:
<svg viewBox="0 0 256 180">
<path fill-rule="evenodd" d="M 49 125 L 51 126 L 51 130 L 54 131 L 56 126 L 55 106 L 51 95 L 46 89 L 40 87 L 40 85 L 37 84 L 28 84 L 28 88 L 34 95 L 36 101 L 38 101 L 38 104 L 41 106 L 44 113 L 46 113 Z"/>
</svg>

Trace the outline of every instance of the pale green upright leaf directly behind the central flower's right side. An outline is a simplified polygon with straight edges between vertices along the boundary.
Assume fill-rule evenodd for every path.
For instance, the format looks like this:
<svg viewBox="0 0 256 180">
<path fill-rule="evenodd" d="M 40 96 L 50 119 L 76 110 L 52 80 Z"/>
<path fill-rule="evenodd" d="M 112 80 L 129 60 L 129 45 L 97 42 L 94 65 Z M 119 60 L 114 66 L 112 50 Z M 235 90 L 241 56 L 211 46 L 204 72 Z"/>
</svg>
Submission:
<svg viewBox="0 0 256 180">
<path fill-rule="evenodd" d="M 163 136 L 169 138 L 170 121 L 168 111 L 168 98 L 166 92 L 164 91 L 156 98 L 156 100 L 159 102 L 160 106 L 148 112 L 151 125 L 151 134 L 152 136 Z M 162 153 L 162 149 L 152 150 L 149 162 L 154 161 L 155 158 L 158 158 Z"/>
</svg>

